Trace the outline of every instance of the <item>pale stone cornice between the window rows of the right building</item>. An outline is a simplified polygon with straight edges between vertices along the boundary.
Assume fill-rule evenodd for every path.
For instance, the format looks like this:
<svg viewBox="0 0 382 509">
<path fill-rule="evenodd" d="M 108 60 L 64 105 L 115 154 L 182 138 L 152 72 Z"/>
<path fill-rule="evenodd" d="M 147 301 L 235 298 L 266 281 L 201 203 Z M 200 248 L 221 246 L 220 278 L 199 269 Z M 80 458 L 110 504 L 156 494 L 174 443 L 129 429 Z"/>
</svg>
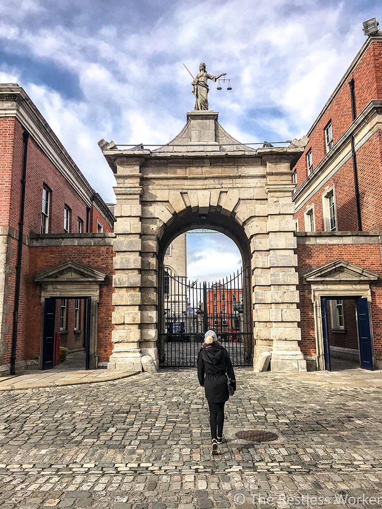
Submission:
<svg viewBox="0 0 382 509">
<path fill-rule="evenodd" d="M 346 154 L 341 159 L 338 165 L 336 165 L 333 172 L 331 172 L 330 177 L 336 173 L 336 171 L 343 166 L 343 164 L 351 157 L 350 151 L 350 136 L 356 136 L 360 133 L 360 131 L 364 128 L 365 124 L 368 125 L 373 118 L 377 115 L 382 114 L 382 101 L 380 100 L 372 100 L 369 104 L 363 109 L 360 115 L 354 120 L 354 122 L 350 125 L 350 127 L 342 134 L 342 136 L 337 140 L 334 144 L 333 149 L 328 152 L 319 162 L 319 164 L 314 168 L 313 172 L 307 177 L 307 179 L 299 186 L 296 192 L 293 194 L 293 201 L 296 203 L 298 201 L 302 201 L 302 203 L 296 207 L 296 212 L 299 210 L 304 203 L 309 199 L 306 194 L 309 190 L 311 194 L 314 194 L 324 182 L 320 181 L 322 173 L 325 171 L 325 168 L 336 158 L 341 152 L 346 150 L 346 146 L 348 146 L 348 150 Z M 356 143 L 355 149 L 357 150 L 367 141 L 367 139 L 375 132 L 377 128 L 382 127 L 382 125 L 376 124 L 373 130 L 370 130 L 367 135 L 363 136 L 358 143 Z M 328 177 L 328 178 L 330 178 Z M 326 179 L 327 180 L 327 179 Z M 304 196 L 303 200 L 302 197 Z"/>
</svg>

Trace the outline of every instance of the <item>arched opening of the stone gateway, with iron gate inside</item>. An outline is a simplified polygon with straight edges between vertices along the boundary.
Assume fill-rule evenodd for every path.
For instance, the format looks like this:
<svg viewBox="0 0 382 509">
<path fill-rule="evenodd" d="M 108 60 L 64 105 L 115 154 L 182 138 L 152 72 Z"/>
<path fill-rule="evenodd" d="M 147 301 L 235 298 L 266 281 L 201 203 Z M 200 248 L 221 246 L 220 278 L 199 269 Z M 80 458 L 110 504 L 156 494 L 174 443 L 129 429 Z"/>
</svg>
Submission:
<svg viewBox="0 0 382 509">
<path fill-rule="evenodd" d="M 201 229 L 211 232 L 211 237 L 217 232 L 224 234 L 219 238 L 228 237 L 228 243 L 235 245 L 241 258 L 239 266 L 226 264 L 224 273 L 222 269 L 216 273 L 211 265 L 209 273 L 188 274 L 187 245 L 189 239 L 195 238 L 192 233 Z M 224 248 L 214 249 L 216 258 L 225 256 Z M 204 334 L 210 329 L 216 332 L 235 365 L 252 365 L 250 246 L 240 225 L 217 213 L 180 215 L 163 232 L 158 262 L 159 365 L 195 366 Z"/>
</svg>

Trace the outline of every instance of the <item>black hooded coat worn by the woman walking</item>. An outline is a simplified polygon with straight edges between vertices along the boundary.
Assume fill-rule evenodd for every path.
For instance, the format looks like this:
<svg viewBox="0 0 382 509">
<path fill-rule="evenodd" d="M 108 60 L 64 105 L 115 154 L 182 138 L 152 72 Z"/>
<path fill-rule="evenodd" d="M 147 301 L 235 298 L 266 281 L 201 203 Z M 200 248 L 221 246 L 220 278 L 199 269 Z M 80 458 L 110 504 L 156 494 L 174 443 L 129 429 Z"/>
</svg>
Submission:
<svg viewBox="0 0 382 509">
<path fill-rule="evenodd" d="M 236 390 L 235 373 L 227 350 L 220 343 L 204 344 L 198 355 L 198 379 L 211 403 L 228 400 L 227 375 Z"/>
</svg>

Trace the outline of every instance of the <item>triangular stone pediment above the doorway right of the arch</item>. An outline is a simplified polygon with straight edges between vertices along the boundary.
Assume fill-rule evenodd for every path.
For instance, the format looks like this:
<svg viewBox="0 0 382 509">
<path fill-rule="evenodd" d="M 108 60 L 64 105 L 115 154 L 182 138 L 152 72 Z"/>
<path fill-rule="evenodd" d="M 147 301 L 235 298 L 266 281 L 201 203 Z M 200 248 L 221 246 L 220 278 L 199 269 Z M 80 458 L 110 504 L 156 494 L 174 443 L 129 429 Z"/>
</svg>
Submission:
<svg viewBox="0 0 382 509">
<path fill-rule="evenodd" d="M 336 260 L 308 272 L 304 278 L 310 283 L 370 283 L 378 279 L 378 274 L 346 260 Z"/>
</svg>

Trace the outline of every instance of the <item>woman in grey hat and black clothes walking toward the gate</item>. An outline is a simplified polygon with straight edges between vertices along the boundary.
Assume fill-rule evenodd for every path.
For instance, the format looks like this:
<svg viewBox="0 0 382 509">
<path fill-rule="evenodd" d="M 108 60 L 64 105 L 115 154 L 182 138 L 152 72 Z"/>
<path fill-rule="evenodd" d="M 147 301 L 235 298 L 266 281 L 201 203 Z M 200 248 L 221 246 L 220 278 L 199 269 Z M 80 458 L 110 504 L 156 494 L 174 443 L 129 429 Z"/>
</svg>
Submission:
<svg viewBox="0 0 382 509">
<path fill-rule="evenodd" d="M 228 352 L 214 331 L 208 330 L 198 355 L 198 379 L 208 401 L 213 455 L 219 454 L 217 446 L 223 443 L 224 405 L 230 396 L 227 376 L 235 391 L 235 373 Z"/>
</svg>

